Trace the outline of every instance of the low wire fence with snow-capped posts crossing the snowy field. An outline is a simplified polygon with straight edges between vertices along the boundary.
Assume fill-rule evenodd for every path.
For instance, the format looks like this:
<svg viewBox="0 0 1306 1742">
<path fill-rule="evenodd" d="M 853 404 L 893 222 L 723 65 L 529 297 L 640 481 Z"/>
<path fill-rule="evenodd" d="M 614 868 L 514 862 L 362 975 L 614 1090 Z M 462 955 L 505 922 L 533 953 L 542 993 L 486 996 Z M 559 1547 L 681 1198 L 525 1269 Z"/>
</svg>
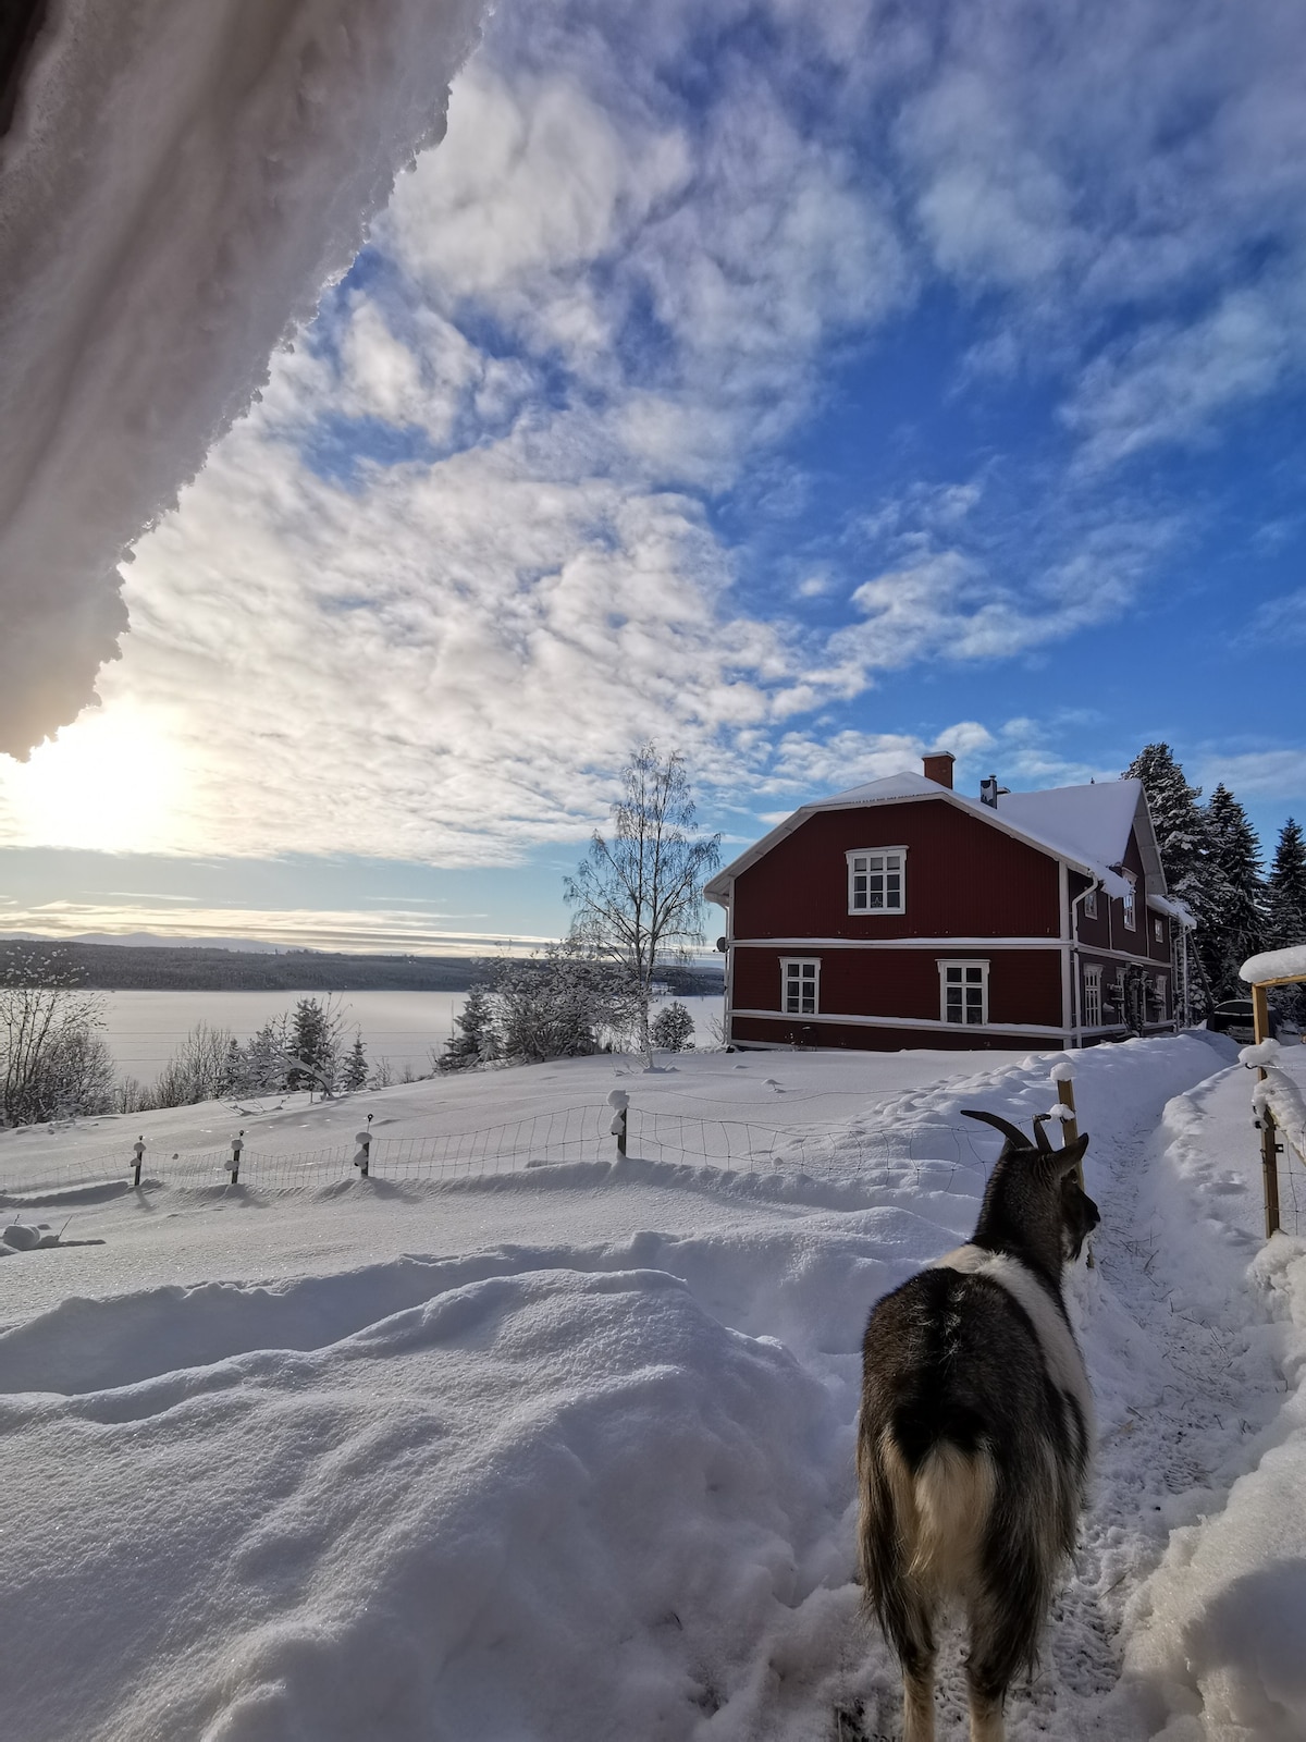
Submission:
<svg viewBox="0 0 1306 1742">
<path fill-rule="evenodd" d="M 618 1138 L 616 1125 L 623 1125 Z M 622 1146 L 623 1144 L 623 1146 Z M 221 1148 L 171 1150 L 124 1139 L 120 1146 L 77 1158 L 23 1157 L 0 1164 L 0 1204 L 37 1193 L 75 1193 L 134 1179 L 139 1162 L 143 1183 L 169 1186 L 214 1186 L 232 1183 L 268 1190 L 329 1186 L 355 1179 L 364 1171 L 364 1144 L 324 1150 L 265 1151 L 240 1139 Z M 751 1120 L 695 1118 L 656 1113 L 637 1106 L 571 1106 L 531 1118 L 484 1125 L 477 1131 L 432 1138 L 380 1138 L 366 1143 L 366 1172 L 395 1183 L 481 1179 L 529 1167 L 573 1162 L 616 1160 L 629 1153 L 639 1160 L 719 1167 L 742 1172 L 789 1172 L 815 1178 L 855 1178 L 874 1165 L 905 1172 L 918 1183 L 946 1190 L 958 1165 L 984 1167 L 968 1131 L 956 1125 L 925 1125 L 907 1132 L 855 1127 L 841 1131 L 777 1131 Z"/>
</svg>

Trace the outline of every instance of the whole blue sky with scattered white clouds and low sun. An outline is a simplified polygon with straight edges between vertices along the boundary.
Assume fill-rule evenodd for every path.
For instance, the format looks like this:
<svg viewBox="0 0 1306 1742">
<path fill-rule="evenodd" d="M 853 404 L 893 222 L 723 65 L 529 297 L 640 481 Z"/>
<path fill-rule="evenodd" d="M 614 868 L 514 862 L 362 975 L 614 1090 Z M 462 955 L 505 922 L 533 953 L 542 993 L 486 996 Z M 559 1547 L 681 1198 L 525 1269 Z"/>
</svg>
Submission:
<svg viewBox="0 0 1306 1742">
<path fill-rule="evenodd" d="M 33 930 L 475 948 L 641 739 L 728 852 L 951 747 L 1306 812 L 1306 17 L 503 5 L 0 763 Z"/>
</svg>

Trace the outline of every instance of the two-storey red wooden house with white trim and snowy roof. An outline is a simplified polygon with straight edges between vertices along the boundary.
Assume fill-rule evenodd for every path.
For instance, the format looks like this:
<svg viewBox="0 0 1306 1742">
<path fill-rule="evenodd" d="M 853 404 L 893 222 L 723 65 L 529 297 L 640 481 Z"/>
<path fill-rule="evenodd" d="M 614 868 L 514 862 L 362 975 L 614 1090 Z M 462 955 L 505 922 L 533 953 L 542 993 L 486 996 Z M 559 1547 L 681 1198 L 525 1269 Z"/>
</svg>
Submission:
<svg viewBox="0 0 1306 1742">
<path fill-rule="evenodd" d="M 1182 1000 L 1191 922 L 1139 780 L 973 800 L 926 756 L 803 805 L 707 895 L 737 1047 L 1080 1047 Z"/>
</svg>

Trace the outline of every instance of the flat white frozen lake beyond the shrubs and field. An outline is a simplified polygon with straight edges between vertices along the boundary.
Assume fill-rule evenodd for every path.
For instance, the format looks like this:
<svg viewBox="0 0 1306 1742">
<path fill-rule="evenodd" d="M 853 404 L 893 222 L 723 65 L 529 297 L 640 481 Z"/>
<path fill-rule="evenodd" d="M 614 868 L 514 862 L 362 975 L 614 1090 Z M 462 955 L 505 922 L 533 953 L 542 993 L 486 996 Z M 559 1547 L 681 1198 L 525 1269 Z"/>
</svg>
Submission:
<svg viewBox="0 0 1306 1742">
<path fill-rule="evenodd" d="M 118 1071 L 151 1084 L 181 1040 L 197 1023 L 230 1028 L 244 1042 L 272 1017 L 293 1010 L 300 998 L 326 998 L 303 991 L 106 991 L 104 1038 Z M 442 1049 L 453 1033 L 465 991 L 352 991 L 336 995 L 345 1014 L 345 1043 L 362 1035 L 373 1064 L 385 1057 L 395 1077 L 430 1070 L 430 1049 Z M 723 1000 L 683 998 L 693 1014 L 695 1040 L 710 1045 L 710 1019 L 721 1016 Z"/>
</svg>

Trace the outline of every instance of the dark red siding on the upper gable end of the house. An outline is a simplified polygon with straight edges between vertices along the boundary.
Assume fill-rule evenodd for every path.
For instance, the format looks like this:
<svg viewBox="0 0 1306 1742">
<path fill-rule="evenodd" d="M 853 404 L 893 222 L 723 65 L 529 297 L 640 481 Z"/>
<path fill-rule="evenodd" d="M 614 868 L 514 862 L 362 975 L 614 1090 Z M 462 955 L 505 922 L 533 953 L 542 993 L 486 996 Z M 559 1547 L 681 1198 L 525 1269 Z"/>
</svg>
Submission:
<svg viewBox="0 0 1306 1742">
<path fill-rule="evenodd" d="M 864 847 L 907 848 L 905 913 L 848 913 L 845 855 Z M 942 798 L 820 810 L 735 880 L 733 932 L 735 937 L 1057 937 L 1057 862 Z M 738 989 L 735 1003 L 745 1003 Z"/>
</svg>

